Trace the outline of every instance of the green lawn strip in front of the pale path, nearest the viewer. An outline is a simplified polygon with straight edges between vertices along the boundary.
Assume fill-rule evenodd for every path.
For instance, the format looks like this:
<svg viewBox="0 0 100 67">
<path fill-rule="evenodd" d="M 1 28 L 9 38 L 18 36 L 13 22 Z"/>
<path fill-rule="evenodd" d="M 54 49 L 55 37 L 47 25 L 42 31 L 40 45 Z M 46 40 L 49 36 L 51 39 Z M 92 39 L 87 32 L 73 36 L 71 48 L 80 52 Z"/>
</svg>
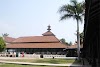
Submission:
<svg viewBox="0 0 100 67">
<path fill-rule="evenodd" d="M 0 64 L 0 67 L 55 67 L 55 66 L 32 66 L 32 65 L 17 65 L 17 64 Z M 59 66 L 59 67 L 61 67 L 61 66 Z"/>
</svg>

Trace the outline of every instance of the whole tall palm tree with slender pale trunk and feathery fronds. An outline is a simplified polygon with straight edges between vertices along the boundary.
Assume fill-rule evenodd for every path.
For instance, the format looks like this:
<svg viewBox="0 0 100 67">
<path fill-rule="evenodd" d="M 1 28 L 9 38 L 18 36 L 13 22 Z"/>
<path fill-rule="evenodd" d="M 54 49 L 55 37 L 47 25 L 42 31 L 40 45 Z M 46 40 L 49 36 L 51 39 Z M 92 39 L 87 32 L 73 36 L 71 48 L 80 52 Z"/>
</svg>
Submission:
<svg viewBox="0 0 100 67">
<path fill-rule="evenodd" d="M 82 22 L 84 16 L 84 2 L 78 3 L 76 0 L 71 0 L 71 4 L 60 7 L 59 13 L 62 14 L 60 20 L 73 18 L 77 21 L 77 54 L 80 60 L 80 35 L 79 35 L 79 21 Z"/>
</svg>

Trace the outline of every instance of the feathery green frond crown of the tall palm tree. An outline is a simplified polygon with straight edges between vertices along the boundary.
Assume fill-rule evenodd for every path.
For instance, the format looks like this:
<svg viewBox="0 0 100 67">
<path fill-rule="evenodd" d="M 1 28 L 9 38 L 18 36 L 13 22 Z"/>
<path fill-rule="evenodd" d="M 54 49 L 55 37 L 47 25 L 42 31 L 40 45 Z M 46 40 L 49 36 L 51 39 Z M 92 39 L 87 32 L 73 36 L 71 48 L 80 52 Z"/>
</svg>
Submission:
<svg viewBox="0 0 100 67">
<path fill-rule="evenodd" d="M 60 20 L 73 18 L 77 21 L 82 21 L 84 12 L 84 2 L 78 3 L 77 0 L 71 0 L 71 4 L 63 5 L 60 7 L 59 13 L 62 14 Z"/>
</svg>

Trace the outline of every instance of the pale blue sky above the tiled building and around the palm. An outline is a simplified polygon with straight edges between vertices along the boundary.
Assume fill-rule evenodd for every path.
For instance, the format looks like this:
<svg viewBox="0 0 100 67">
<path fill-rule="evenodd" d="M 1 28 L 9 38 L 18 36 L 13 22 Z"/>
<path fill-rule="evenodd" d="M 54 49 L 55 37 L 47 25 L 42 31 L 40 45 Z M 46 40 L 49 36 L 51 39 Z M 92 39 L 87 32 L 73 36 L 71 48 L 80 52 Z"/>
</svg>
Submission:
<svg viewBox="0 0 100 67">
<path fill-rule="evenodd" d="M 68 3 L 70 0 L 0 0 L 0 36 L 3 33 L 8 33 L 14 38 L 41 36 L 50 25 L 51 32 L 58 39 L 65 38 L 67 42 L 74 43 L 76 21 L 59 21 L 59 8 Z M 84 23 L 79 25 L 82 32 Z"/>
</svg>

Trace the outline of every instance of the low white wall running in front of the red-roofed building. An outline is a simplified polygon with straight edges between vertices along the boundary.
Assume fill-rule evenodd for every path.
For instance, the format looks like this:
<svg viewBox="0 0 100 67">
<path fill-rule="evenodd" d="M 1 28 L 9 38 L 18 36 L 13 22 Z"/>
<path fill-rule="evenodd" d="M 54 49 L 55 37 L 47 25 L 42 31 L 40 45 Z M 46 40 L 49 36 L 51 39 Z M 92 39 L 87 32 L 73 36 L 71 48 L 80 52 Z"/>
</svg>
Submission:
<svg viewBox="0 0 100 67">
<path fill-rule="evenodd" d="M 1 56 L 2 55 L 2 56 Z M 11 55 L 11 54 L 10 54 Z M 16 56 L 16 54 L 14 54 L 14 56 L 10 56 L 7 54 L 0 54 L 0 57 L 26 57 L 26 58 L 67 58 L 67 59 L 71 59 L 71 57 L 66 57 L 66 55 L 47 55 L 47 54 L 18 54 L 18 56 Z M 72 57 L 72 59 L 75 59 L 76 57 Z"/>
</svg>

